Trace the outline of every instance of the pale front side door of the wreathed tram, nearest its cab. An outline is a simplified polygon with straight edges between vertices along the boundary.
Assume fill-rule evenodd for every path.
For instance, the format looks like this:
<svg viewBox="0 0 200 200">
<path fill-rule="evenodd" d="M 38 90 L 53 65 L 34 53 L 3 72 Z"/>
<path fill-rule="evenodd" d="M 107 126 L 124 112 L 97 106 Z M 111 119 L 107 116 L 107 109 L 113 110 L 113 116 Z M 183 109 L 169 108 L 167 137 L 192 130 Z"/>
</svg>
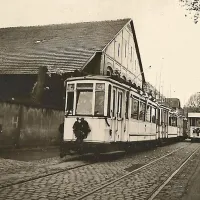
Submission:
<svg viewBox="0 0 200 200">
<path fill-rule="evenodd" d="M 124 116 L 122 107 L 124 105 L 123 91 L 118 88 L 113 88 L 113 124 L 114 124 L 114 141 L 121 141 L 122 127 Z"/>
</svg>

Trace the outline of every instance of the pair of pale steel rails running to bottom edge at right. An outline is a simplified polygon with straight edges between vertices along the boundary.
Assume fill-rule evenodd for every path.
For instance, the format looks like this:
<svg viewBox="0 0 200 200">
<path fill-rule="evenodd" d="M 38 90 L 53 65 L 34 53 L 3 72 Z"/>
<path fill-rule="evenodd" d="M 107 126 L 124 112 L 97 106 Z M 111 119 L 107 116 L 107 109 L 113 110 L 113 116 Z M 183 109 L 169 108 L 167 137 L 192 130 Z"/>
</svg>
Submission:
<svg viewBox="0 0 200 200">
<path fill-rule="evenodd" d="M 188 146 L 189 146 L 189 145 L 188 145 Z M 113 181 L 108 181 L 107 183 L 104 183 L 104 184 L 101 185 L 100 187 L 95 188 L 94 190 L 92 190 L 92 191 L 90 191 L 90 192 L 87 192 L 87 193 L 83 194 L 82 196 L 76 197 L 76 200 L 87 199 L 87 197 L 89 197 L 90 195 L 95 194 L 96 192 L 98 192 L 98 191 L 100 191 L 100 190 L 102 190 L 102 189 L 104 189 L 104 188 L 106 188 L 106 187 L 108 187 L 108 186 L 111 186 L 112 184 L 115 184 L 115 183 L 119 182 L 119 181 L 122 180 L 122 179 L 128 178 L 129 176 L 131 176 L 131 175 L 133 175 L 133 174 L 139 172 L 140 170 L 143 170 L 143 169 L 147 168 L 148 166 L 150 166 L 150 165 L 152 165 L 152 164 L 154 164 L 154 163 L 156 163 L 156 162 L 158 162 L 158 161 L 161 161 L 162 159 L 164 159 L 164 158 L 166 158 L 166 157 L 168 157 L 168 156 L 170 156 L 170 155 L 172 155 L 172 154 L 174 154 L 174 153 L 176 153 L 176 152 L 178 152 L 178 151 L 180 151 L 181 149 L 184 149 L 184 148 L 186 148 L 186 147 L 178 148 L 178 149 L 176 149 L 176 150 L 174 150 L 174 151 L 172 151 L 172 152 L 170 152 L 170 153 L 168 153 L 168 154 L 166 154 L 166 155 L 164 155 L 164 156 L 161 156 L 160 158 L 157 158 L 157 159 L 155 159 L 155 160 L 153 160 L 153 161 L 151 161 L 151 162 L 149 162 L 149 163 L 147 163 L 147 164 L 145 164 L 145 165 L 143 165 L 143 166 L 141 166 L 141 167 L 139 167 L 139 168 L 137 168 L 137 169 L 135 169 L 135 170 L 133 170 L 133 171 L 131 171 L 131 172 L 129 172 L 129 173 L 127 173 L 127 174 L 125 174 L 125 175 L 123 175 L 123 176 L 121 176 L 121 177 L 115 179 L 115 180 L 113 180 Z M 149 197 L 148 197 L 147 199 L 148 199 L 148 200 L 153 200 L 153 199 L 157 196 L 157 194 L 164 188 L 164 186 L 165 186 L 167 183 L 169 183 L 169 181 L 180 171 L 181 168 L 184 167 L 184 165 L 191 159 L 191 157 L 192 157 L 199 149 L 200 149 L 200 147 L 196 148 L 196 149 L 192 152 L 192 154 L 190 154 L 186 159 L 184 159 L 184 161 L 182 162 L 182 164 L 167 178 L 167 180 L 163 181 L 163 183 L 162 183 L 161 185 L 159 185 L 159 186 L 149 195 Z"/>
</svg>

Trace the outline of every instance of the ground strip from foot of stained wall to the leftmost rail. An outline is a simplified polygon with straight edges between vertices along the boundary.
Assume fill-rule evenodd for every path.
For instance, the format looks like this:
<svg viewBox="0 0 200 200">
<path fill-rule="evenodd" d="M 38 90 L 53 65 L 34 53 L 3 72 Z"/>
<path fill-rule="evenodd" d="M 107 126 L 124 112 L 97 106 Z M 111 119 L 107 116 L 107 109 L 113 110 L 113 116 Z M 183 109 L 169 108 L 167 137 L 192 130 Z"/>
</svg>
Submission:
<svg viewBox="0 0 200 200">
<path fill-rule="evenodd" d="M 0 188 L 85 164 L 77 155 L 60 158 L 57 147 L 6 149 L 0 158 Z M 71 160 L 71 162 L 67 162 Z M 74 161 L 72 161 L 74 160 Z"/>
</svg>

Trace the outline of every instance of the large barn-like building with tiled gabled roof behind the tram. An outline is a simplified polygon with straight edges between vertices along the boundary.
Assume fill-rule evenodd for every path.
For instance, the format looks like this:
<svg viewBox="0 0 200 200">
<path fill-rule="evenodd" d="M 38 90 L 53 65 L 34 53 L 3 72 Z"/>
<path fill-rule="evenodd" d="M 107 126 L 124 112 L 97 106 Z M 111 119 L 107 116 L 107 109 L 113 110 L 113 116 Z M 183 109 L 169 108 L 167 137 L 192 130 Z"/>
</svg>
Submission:
<svg viewBox="0 0 200 200">
<path fill-rule="evenodd" d="M 0 29 L 1 99 L 30 99 L 31 92 L 40 91 L 43 104 L 59 106 L 63 75 L 76 70 L 95 75 L 117 73 L 143 87 L 145 77 L 133 21 Z"/>
</svg>

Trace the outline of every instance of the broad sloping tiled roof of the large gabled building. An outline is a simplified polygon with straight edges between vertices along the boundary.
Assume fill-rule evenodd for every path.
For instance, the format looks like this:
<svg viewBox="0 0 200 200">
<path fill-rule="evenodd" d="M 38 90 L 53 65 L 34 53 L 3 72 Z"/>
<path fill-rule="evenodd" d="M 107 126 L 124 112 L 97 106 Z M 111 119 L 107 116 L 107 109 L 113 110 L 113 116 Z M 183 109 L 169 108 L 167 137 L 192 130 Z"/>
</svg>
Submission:
<svg viewBox="0 0 200 200">
<path fill-rule="evenodd" d="M 81 69 L 130 19 L 0 29 L 0 74 Z"/>
</svg>

